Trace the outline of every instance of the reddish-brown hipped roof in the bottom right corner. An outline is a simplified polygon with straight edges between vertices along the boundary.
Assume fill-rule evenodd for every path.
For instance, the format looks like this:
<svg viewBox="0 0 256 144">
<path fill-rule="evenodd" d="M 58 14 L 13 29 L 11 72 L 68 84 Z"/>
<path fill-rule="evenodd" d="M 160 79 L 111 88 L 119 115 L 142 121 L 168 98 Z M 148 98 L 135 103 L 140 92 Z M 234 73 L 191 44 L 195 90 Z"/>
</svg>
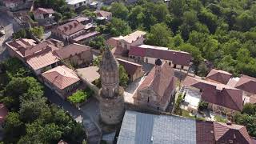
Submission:
<svg viewBox="0 0 256 144">
<path fill-rule="evenodd" d="M 246 126 L 214 122 L 214 138 L 216 142 L 250 144 L 250 136 Z"/>
</svg>

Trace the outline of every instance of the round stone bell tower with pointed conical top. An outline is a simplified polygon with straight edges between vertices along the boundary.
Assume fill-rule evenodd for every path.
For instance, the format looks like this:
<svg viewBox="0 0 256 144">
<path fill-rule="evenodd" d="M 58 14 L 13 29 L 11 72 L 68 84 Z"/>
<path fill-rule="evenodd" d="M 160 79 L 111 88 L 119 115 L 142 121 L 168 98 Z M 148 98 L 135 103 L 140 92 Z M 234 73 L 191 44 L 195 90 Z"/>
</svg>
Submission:
<svg viewBox="0 0 256 144">
<path fill-rule="evenodd" d="M 99 108 L 102 122 L 114 125 L 124 114 L 123 89 L 119 86 L 118 62 L 106 47 L 99 68 L 102 88 L 99 90 Z"/>
</svg>

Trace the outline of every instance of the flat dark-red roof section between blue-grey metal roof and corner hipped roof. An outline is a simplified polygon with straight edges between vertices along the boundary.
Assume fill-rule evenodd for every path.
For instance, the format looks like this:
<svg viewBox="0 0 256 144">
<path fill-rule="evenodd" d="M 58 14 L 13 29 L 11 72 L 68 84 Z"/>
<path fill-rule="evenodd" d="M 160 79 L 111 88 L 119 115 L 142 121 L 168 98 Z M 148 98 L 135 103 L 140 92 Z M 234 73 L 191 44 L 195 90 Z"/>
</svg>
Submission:
<svg viewBox="0 0 256 144">
<path fill-rule="evenodd" d="M 196 121 L 197 144 L 214 144 L 214 123 Z"/>
</svg>

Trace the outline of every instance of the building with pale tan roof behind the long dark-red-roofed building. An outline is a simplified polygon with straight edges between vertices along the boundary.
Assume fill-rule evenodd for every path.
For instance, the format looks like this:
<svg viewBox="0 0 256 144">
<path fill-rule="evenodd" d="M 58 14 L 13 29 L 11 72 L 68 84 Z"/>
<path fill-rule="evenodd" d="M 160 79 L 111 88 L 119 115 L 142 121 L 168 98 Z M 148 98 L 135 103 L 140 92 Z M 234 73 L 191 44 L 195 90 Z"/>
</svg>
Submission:
<svg viewBox="0 0 256 144">
<path fill-rule="evenodd" d="M 117 38 L 110 38 L 106 43 L 107 45 L 115 48 L 115 55 L 128 56 L 130 47 L 142 45 L 145 35 L 146 32 L 137 30 L 124 37 L 120 36 Z"/>
</svg>

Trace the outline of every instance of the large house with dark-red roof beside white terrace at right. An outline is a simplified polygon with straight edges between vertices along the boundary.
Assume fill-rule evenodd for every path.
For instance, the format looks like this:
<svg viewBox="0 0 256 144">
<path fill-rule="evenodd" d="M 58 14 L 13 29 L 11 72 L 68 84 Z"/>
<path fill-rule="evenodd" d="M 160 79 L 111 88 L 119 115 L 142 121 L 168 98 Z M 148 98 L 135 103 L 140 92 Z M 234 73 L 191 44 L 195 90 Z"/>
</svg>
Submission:
<svg viewBox="0 0 256 144">
<path fill-rule="evenodd" d="M 208 108 L 217 114 L 234 114 L 242 111 L 243 99 L 242 90 L 236 89 L 217 82 L 210 82 L 200 78 L 187 76 L 182 82 L 182 94 L 190 94 L 192 97 L 199 94 L 199 98 L 208 102 Z M 185 87 L 185 88 L 184 88 Z M 196 89 L 197 94 L 190 93 Z M 187 105 L 190 109 L 190 103 Z"/>
</svg>

